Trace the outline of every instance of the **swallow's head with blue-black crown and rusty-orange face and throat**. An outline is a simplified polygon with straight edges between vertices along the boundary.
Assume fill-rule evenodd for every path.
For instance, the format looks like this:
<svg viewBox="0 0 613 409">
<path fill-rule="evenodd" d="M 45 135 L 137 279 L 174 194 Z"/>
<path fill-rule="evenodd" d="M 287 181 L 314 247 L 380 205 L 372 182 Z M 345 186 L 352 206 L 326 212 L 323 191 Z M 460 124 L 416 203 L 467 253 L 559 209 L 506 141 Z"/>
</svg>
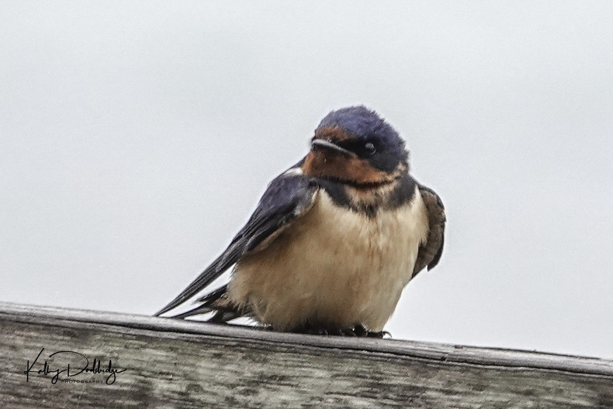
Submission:
<svg viewBox="0 0 613 409">
<path fill-rule="evenodd" d="M 330 112 L 315 129 L 305 174 L 355 186 L 393 182 L 406 172 L 405 142 L 390 124 L 364 106 Z"/>
</svg>

